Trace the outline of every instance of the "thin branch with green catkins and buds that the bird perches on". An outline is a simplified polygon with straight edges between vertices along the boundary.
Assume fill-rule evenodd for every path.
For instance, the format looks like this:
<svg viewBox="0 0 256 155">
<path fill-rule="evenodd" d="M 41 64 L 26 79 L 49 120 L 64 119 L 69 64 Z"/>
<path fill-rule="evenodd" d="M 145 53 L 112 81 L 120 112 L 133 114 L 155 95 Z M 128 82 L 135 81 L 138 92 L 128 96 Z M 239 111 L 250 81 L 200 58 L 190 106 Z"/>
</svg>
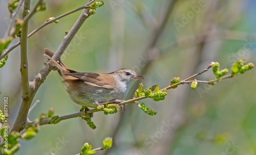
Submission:
<svg viewBox="0 0 256 155">
<path fill-rule="evenodd" d="M 56 124 L 62 120 L 75 118 L 75 117 L 79 117 L 79 116 L 84 116 L 84 115 L 86 115 L 85 117 L 89 118 L 87 120 L 90 120 L 91 118 L 89 117 L 88 114 L 92 114 L 92 113 L 99 112 L 99 111 L 103 111 L 104 114 L 106 114 L 106 115 L 117 113 L 119 111 L 118 107 L 122 106 L 122 105 L 126 105 L 126 104 L 137 104 L 138 107 L 140 109 L 142 109 L 143 112 L 147 113 L 148 115 L 156 115 L 155 111 L 147 108 L 143 102 L 140 104 L 138 101 L 141 99 L 144 99 L 144 98 L 152 98 L 154 101 L 163 100 L 165 98 L 165 96 L 167 95 L 166 90 L 175 89 L 179 85 L 183 85 L 183 84 L 189 84 L 191 89 L 196 89 L 197 85 L 199 83 L 206 83 L 209 85 L 214 85 L 215 83 L 220 82 L 227 78 L 231 78 L 234 75 L 237 75 L 238 73 L 243 74 L 245 71 L 252 69 L 254 67 L 254 65 L 252 63 L 248 63 L 248 64 L 244 65 L 244 60 L 239 60 L 238 62 L 233 64 L 233 66 L 231 67 L 231 73 L 229 73 L 229 74 L 227 74 L 228 69 L 219 70 L 219 67 L 220 67 L 220 64 L 218 62 L 212 62 L 209 64 L 209 66 L 207 68 L 205 68 L 204 70 L 202 70 L 192 76 L 187 77 L 185 80 L 180 81 L 179 77 L 174 77 L 170 81 L 170 85 L 163 89 L 159 89 L 158 85 L 154 85 L 152 87 L 142 90 L 143 85 L 142 85 L 142 83 L 140 83 L 138 86 L 138 89 L 135 91 L 133 99 L 125 100 L 125 101 L 122 101 L 117 104 L 108 104 L 108 102 L 107 102 L 106 105 L 98 106 L 97 108 L 92 109 L 92 110 L 88 110 L 88 111 L 82 110 L 79 113 L 74 113 L 74 114 L 60 116 L 60 117 L 53 116 L 50 119 L 41 119 L 39 121 L 28 122 L 26 124 L 26 126 L 27 127 L 33 126 L 34 124 L 37 124 L 37 122 L 39 123 L 39 125 Z M 212 68 L 212 72 L 216 76 L 215 80 L 211 80 L 211 81 L 200 81 L 200 80 L 196 80 L 196 79 L 191 80 L 191 79 L 197 77 L 198 75 L 208 71 L 209 68 Z M 92 127 L 93 129 L 96 128 L 96 126 L 93 124 L 93 122 L 88 123 L 88 124 L 91 127 L 93 126 Z"/>
</svg>

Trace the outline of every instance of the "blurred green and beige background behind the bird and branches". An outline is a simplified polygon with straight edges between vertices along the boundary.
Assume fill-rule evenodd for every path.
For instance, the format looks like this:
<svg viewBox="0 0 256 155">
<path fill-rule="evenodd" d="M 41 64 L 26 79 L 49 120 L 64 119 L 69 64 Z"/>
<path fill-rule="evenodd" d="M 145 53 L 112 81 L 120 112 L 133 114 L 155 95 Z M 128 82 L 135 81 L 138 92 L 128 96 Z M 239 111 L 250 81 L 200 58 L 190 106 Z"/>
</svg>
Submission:
<svg viewBox="0 0 256 155">
<path fill-rule="evenodd" d="M 32 1 L 32 6 L 35 1 Z M 29 32 L 47 18 L 56 17 L 86 4 L 86 1 L 47 1 L 47 10 L 30 20 Z M 169 85 L 218 61 L 230 68 L 239 60 L 256 64 L 256 1 L 104 1 L 95 15 L 87 19 L 62 55 L 71 69 L 84 72 L 112 72 L 130 68 L 146 77 L 144 87 Z M 8 1 L 0 1 L 0 36 L 7 28 Z M 21 11 L 20 11 L 21 12 Z M 44 66 L 44 48 L 55 51 L 65 31 L 70 30 L 81 11 L 51 23 L 29 38 L 29 79 L 33 81 Z M 21 13 L 19 13 L 21 15 Z M 14 40 L 12 44 L 18 40 Z M 19 47 L 11 51 L 0 69 L 0 95 L 9 97 L 12 125 L 21 104 Z M 102 146 L 113 137 L 109 150 L 96 154 L 256 154 L 256 71 L 223 80 L 215 86 L 199 84 L 168 90 L 166 99 L 142 100 L 156 116 L 148 116 L 138 106 L 113 115 L 95 113 L 92 130 L 81 118 L 40 126 L 37 136 L 20 141 L 19 154 L 76 154 L 84 142 Z M 197 77 L 211 80 L 211 71 Z M 79 111 L 69 98 L 66 86 L 52 71 L 39 88 L 34 101 L 39 104 L 29 114 L 38 118 L 50 107 L 55 115 Z M 132 98 L 134 84 L 127 99 Z M 3 102 L 3 101 L 1 101 Z M 1 108 L 3 105 L 1 104 Z"/>
</svg>

